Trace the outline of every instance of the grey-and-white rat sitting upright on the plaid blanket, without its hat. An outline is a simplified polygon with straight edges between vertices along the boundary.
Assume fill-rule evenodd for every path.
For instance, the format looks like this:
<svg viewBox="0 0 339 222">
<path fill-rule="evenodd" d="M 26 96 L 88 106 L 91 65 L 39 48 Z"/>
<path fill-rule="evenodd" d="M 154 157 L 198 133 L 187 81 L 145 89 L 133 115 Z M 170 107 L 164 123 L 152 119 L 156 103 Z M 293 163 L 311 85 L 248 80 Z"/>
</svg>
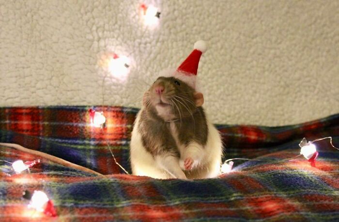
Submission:
<svg viewBox="0 0 339 222">
<path fill-rule="evenodd" d="M 182 79 L 156 79 L 144 93 L 134 123 L 132 174 L 159 179 L 219 175 L 222 142 L 203 103 L 203 94 Z"/>
</svg>

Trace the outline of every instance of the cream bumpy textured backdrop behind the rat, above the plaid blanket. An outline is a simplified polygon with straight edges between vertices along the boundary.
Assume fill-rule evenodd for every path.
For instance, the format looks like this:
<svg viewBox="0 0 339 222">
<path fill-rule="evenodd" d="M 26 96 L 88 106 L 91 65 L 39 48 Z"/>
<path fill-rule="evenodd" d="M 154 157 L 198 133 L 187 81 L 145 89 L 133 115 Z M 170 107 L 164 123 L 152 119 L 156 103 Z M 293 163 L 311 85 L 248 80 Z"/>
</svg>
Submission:
<svg viewBox="0 0 339 222">
<path fill-rule="evenodd" d="M 339 112 L 338 0 L 0 0 L 0 106 L 125 105 L 196 40 L 200 88 L 215 123 L 284 125 Z M 108 53 L 130 54 L 129 76 Z M 103 102 L 103 94 L 105 94 Z"/>
</svg>

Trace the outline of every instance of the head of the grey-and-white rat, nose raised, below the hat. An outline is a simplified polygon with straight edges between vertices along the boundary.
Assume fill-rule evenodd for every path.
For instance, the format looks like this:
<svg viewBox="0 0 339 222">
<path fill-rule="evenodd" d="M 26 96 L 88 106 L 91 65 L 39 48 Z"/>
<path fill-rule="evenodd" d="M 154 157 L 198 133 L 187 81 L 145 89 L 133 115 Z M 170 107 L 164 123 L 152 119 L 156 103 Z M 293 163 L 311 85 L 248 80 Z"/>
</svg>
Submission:
<svg viewBox="0 0 339 222">
<path fill-rule="evenodd" d="M 191 117 L 203 102 L 202 93 L 174 77 L 159 77 L 143 96 L 144 107 L 165 121 Z"/>
</svg>

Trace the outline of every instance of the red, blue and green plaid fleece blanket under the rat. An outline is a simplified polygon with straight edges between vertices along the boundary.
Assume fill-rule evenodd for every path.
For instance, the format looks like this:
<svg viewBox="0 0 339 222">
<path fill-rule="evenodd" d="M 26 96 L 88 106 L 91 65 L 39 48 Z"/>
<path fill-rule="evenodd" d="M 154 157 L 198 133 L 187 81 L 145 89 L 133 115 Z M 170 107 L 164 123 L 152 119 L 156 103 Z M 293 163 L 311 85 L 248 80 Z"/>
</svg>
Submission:
<svg viewBox="0 0 339 222">
<path fill-rule="evenodd" d="M 0 221 L 45 221 L 27 208 L 23 190 L 43 190 L 60 221 L 339 221 L 339 150 L 316 142 L 311 167 L 298 143 L 332 136 L 339 146 L 339 115 L 285 127 L 217 125 L 225 156 L 238 160 L 231 173 L 214 179 L 158 180 L 131 172 L 129 139 L 138 109 L 94 107 L 106 128 L 90 126 L 90 107 L 0 108 L 0 142 L 17 143 L 78 165 L 106 178 L 64 167 L 0 146 Z M 31 173 L 8 176 L 9 163 L 41 159 Z M 4 161 L 5 160 L 5 161 Z"/>
</svg>

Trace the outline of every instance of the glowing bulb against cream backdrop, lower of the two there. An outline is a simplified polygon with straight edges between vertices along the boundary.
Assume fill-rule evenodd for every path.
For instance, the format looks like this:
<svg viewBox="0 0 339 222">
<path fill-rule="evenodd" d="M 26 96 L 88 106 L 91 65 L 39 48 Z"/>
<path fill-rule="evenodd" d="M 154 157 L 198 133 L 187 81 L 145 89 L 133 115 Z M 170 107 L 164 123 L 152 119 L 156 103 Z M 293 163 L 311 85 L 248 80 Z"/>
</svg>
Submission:
<svg viewBox="0 0 339 222">
<path fill-rule="evenodd" d="M 126 56 L 114 56 L 108 62 L 108 71 L 116 78 L 125 80 L 129 73 L 130 61 Z"/>
</svg>

